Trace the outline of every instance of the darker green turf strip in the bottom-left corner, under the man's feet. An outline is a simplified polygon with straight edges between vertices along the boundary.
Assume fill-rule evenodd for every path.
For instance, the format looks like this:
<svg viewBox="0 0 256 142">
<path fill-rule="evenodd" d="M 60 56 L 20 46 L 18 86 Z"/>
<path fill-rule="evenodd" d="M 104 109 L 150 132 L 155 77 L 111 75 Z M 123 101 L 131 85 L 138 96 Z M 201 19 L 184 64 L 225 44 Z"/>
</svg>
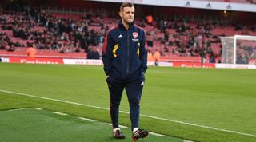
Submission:
<svg viewBox="0 0 256 142">
<path fill-rule="evenodd" d="M 58 115 L 33 108 L 0 111 L 1 141 L 117 141 L 111 137 L 110 125 L 98 121 L 82 120 L 77 116 Z M 131 141 L 130 128 L 122 128 L 127 136 L 122 142 Z M 129 137 L 128 137 L 129 136 Z M 170 136 L 150 135 L 147 142 L 182 142 Z"/>
</svg>

